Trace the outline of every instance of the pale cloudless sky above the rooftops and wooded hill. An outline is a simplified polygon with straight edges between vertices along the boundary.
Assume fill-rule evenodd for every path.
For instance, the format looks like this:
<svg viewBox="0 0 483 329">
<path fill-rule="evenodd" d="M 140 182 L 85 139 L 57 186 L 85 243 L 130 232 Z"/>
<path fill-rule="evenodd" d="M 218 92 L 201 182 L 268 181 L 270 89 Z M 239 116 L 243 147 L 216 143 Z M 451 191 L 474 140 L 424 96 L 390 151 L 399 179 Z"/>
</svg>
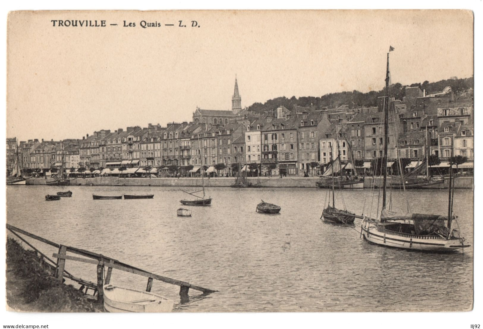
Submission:
<svg viewBox="0 0 483 329">
<path fill-rule="evenodd" d="M 106 20 L 53 27 L 51 20 Z M 123 27 L 123 21 L 136 27 Z M 140 27 L 140 22 L 161 27 Z M 178 27 L 179 20 L 188 27 Z M 190 27 L 196 20 L 200 27 Z M 117 26 L 110 24 L 117 23 Z M 164 26 L 174 24 L 174 26 Z M 278 96 L 473 74 L 470 11 L 29 12 L 9 16 L 7 137 L 82 138 Z"/>
</svg>

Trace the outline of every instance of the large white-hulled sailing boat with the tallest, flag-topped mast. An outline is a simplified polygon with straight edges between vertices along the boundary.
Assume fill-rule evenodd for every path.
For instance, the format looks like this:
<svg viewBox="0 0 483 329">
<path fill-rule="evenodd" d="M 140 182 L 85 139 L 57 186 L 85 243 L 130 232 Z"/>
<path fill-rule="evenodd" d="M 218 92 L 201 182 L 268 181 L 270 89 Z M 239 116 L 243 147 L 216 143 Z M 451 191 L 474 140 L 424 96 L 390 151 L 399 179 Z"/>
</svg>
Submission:
<svg viewBox="0 0 483 329">
<path fill-rule="evenodd" d="M 390 48 L 389 51 L 394 48 Z M 432 252 L 450 252 L 465 247 L 465 239 L 460 233 L 457 217 L 453 213 L 453 191 L 451 166 L 449 178 L 448 216 L 434 214 L 416 214 L 391 210 L 391 202 L 386 207 L 386 179 L 387 179 L 387 144 L 388 111 L 389 111 L 389 52 L 387 53 L 386 87 L 384 94 L 384 157 L 383 170 L 383 200 L 379 220 L 365 217 L 361 224 L 361 235 L 371 243 L 397 247 L 402 249 L 416 249 Z M 400 161 L 398 161 L 400 164 Z M 404 188 L 404 181 L 403 181 Z M 379 201 L 378 201 L 379 209 Z"/>
</svg>

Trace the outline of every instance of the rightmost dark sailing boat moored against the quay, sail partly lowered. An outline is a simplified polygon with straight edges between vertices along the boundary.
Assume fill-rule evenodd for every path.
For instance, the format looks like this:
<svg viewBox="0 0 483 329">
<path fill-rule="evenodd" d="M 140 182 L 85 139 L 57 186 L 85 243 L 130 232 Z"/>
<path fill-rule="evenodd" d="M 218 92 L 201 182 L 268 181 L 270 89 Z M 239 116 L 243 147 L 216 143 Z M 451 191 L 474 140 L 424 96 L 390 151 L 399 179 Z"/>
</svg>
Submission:
<svg viewBox="0 0 483 329">
<path fill-rule="evenodd" d="M 427 127 L 426 127 L 426 159 L 414 168 L 410 173 L 404 175 L 399 182 L 391 183 L 393 188 L 404 188 L 406 189 L 423 189 L 426 186 L 440 185 L 440 188 L 445 188 L 443 184 L 444 178 L 433 179 L 429 176 L 429 143 L 427 138 Z M 418 175 L 425 175 L 425 178 L 419 178 Z"/>
</svg>

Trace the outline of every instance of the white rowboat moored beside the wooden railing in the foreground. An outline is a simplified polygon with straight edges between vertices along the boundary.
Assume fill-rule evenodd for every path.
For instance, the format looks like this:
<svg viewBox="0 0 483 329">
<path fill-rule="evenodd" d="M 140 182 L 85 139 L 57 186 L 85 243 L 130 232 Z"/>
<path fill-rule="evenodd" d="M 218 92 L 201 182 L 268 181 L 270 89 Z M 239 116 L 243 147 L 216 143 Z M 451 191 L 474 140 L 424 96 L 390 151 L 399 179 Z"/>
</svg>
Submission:
<svg viewBox="0 0 483 329">
<path fill-rule="evenodd" d="M 158 294 L 105 285 L 104 310 L 111 313 L 122 312 L 171 312 L 174 302 Z"/>
</svg>

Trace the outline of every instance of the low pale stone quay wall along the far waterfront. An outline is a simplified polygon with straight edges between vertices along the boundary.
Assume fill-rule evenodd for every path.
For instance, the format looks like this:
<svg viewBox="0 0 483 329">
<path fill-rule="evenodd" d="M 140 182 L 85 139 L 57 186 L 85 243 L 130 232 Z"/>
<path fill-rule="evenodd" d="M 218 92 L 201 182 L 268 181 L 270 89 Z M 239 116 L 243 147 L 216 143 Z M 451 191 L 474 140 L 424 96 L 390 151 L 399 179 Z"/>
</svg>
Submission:
<svg viewBox="0 0 483 329">
<path fill-rule="evenodd" d="M 319 180 L 317 177 L 260 177 L 247 178 L 248 181 L 256 183 L 260 179 L 262 187 L 310 187 L 315 188 L 315 182 Z M 382 183 L 382 178 L 366 177 L 364 179 L 364 188 L 370 188 L 372 180 L 375 179 L 375 184 Z M 29 178 L 27 185 L 46 185 L 47 179 L 43 178 Z M 205 186 L 210 187 L 229 187 L 234 182 L 234 178 L 205 178 Z M 387 184 L 392 182 L 391 178 L 387 178 Z M 115 185 L 118 183 L 126 186 L 201 186 L 201 178 L 120 178 L 117 177 L 95 177 L 95 178 L 75 178 L 71 180 L 71 185 L 86 185 L 92 183 L 93 185 Z M 440 189 L 447 188 L 448 183 L 432 185 L 426 188 Z M 455 179 L 455 188 L 472 189 L 472 177 L 459 177 Z"/>
</svg>

